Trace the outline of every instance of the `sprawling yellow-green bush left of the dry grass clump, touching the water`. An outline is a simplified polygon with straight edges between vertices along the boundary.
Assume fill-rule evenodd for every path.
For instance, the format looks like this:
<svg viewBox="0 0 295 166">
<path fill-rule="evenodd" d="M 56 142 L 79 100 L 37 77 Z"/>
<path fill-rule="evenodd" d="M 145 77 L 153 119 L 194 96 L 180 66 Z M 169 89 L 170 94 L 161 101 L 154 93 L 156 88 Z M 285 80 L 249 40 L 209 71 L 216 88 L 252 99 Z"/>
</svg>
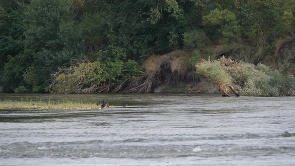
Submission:
<svg viewBox="0 0 295 166">
<path fill-rule="evenodd" d="M 74 66 L 59 68 L 53 75 L 50 92 L 90 93 L 111 90 L 112 85 L 137 76 L 139 65 L 133 60 L 100 63 L 80 62 Z"/>
</svg>

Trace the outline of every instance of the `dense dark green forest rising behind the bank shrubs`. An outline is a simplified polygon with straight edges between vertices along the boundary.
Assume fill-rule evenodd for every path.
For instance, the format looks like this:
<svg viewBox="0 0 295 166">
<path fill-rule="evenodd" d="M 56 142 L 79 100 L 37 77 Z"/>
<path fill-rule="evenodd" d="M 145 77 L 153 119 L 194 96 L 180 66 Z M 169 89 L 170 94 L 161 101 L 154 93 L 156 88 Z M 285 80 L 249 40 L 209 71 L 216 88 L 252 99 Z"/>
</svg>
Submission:
<svg viewBox="0 0 295 166">
<path fill-rule="evenodd" d="M 0 85 L 48 91 L 85 57 L 119 83 L 152 54 L 185 49 L 196 63 L 220 44 L 294 73 L 294 14 L 295 0 L 0 0 Z"/>
</svg>

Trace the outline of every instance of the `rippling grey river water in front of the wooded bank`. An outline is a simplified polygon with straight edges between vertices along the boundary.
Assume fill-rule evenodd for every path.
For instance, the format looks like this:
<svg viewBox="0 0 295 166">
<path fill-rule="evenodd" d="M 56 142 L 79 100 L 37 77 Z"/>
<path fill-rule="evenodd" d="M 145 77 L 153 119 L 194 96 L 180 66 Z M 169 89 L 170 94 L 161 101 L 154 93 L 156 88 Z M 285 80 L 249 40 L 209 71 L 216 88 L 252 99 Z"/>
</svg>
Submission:
<svg viewBox="0 0 295 166">
<path fill-rule="evenodd" d="M 0 94 L 114 105 L 0 110 L 0 165 L 295 165 L 295 97 L 189 95 Z"/>
</svg>

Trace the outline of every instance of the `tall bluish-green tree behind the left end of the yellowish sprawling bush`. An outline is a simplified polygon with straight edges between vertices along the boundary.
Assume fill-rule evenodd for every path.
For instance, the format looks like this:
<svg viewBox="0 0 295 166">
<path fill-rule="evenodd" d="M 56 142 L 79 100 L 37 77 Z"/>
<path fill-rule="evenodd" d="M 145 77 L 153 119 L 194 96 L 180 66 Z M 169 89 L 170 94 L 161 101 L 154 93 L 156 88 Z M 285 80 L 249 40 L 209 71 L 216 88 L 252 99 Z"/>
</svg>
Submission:
<svg viewBox="0 0 295 166">
<path fill-rule="evenodd" d="M 82 57 L 83 47 L 80 32 L 70 14 L 70 0 L 31 0 L 30 4 L 22 5 L 24 8 L 23 26 L 24 52 L 17 57 L 9 58 L 5 64 L 3 80 L 10 88 L 15 88 L 23 82 L 29 86 L 49 84 L 50 73 L 60 65 L 68 65 L 71 59 Z M 30 59 L 27 63 L 17 63 L 24 57 Z M 34 68 L 35 72 L 25 72 L 28 67 Z M 12 70 L 11 70 L 12 69 Z M 11 71 L 13 71 L 11 73 Z M 17 72 L 17 73 L 16 73 Z M 23 81 L 26 77 L 35 78 L 35 82 Z M 13 73 L 18 75 L 16 80 Z M 28 79 L 27 79 L 28 80 Z"/>
</svg>

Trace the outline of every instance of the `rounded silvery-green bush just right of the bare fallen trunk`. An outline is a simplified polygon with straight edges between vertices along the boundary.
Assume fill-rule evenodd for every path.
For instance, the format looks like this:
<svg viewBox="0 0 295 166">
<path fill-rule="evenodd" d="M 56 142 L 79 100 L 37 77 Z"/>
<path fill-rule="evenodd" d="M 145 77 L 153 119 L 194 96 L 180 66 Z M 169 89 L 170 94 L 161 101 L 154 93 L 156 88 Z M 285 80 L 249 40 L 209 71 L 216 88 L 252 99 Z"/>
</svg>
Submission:
<svg viewBox="0 0 295 166">
<path fill-rule="evenodd" d="M 238 90 L 244 95 L 280 96 L 292 95 L 294 84 L 293 76 L 285 76 L 277 70 L 258 63 L 239 63 L 238 71 L 232 72 Z M 293 82 L 294 83 L 294 82 Z M 293 90 L 292 90 L 293 89 Z"/>
</svg>

